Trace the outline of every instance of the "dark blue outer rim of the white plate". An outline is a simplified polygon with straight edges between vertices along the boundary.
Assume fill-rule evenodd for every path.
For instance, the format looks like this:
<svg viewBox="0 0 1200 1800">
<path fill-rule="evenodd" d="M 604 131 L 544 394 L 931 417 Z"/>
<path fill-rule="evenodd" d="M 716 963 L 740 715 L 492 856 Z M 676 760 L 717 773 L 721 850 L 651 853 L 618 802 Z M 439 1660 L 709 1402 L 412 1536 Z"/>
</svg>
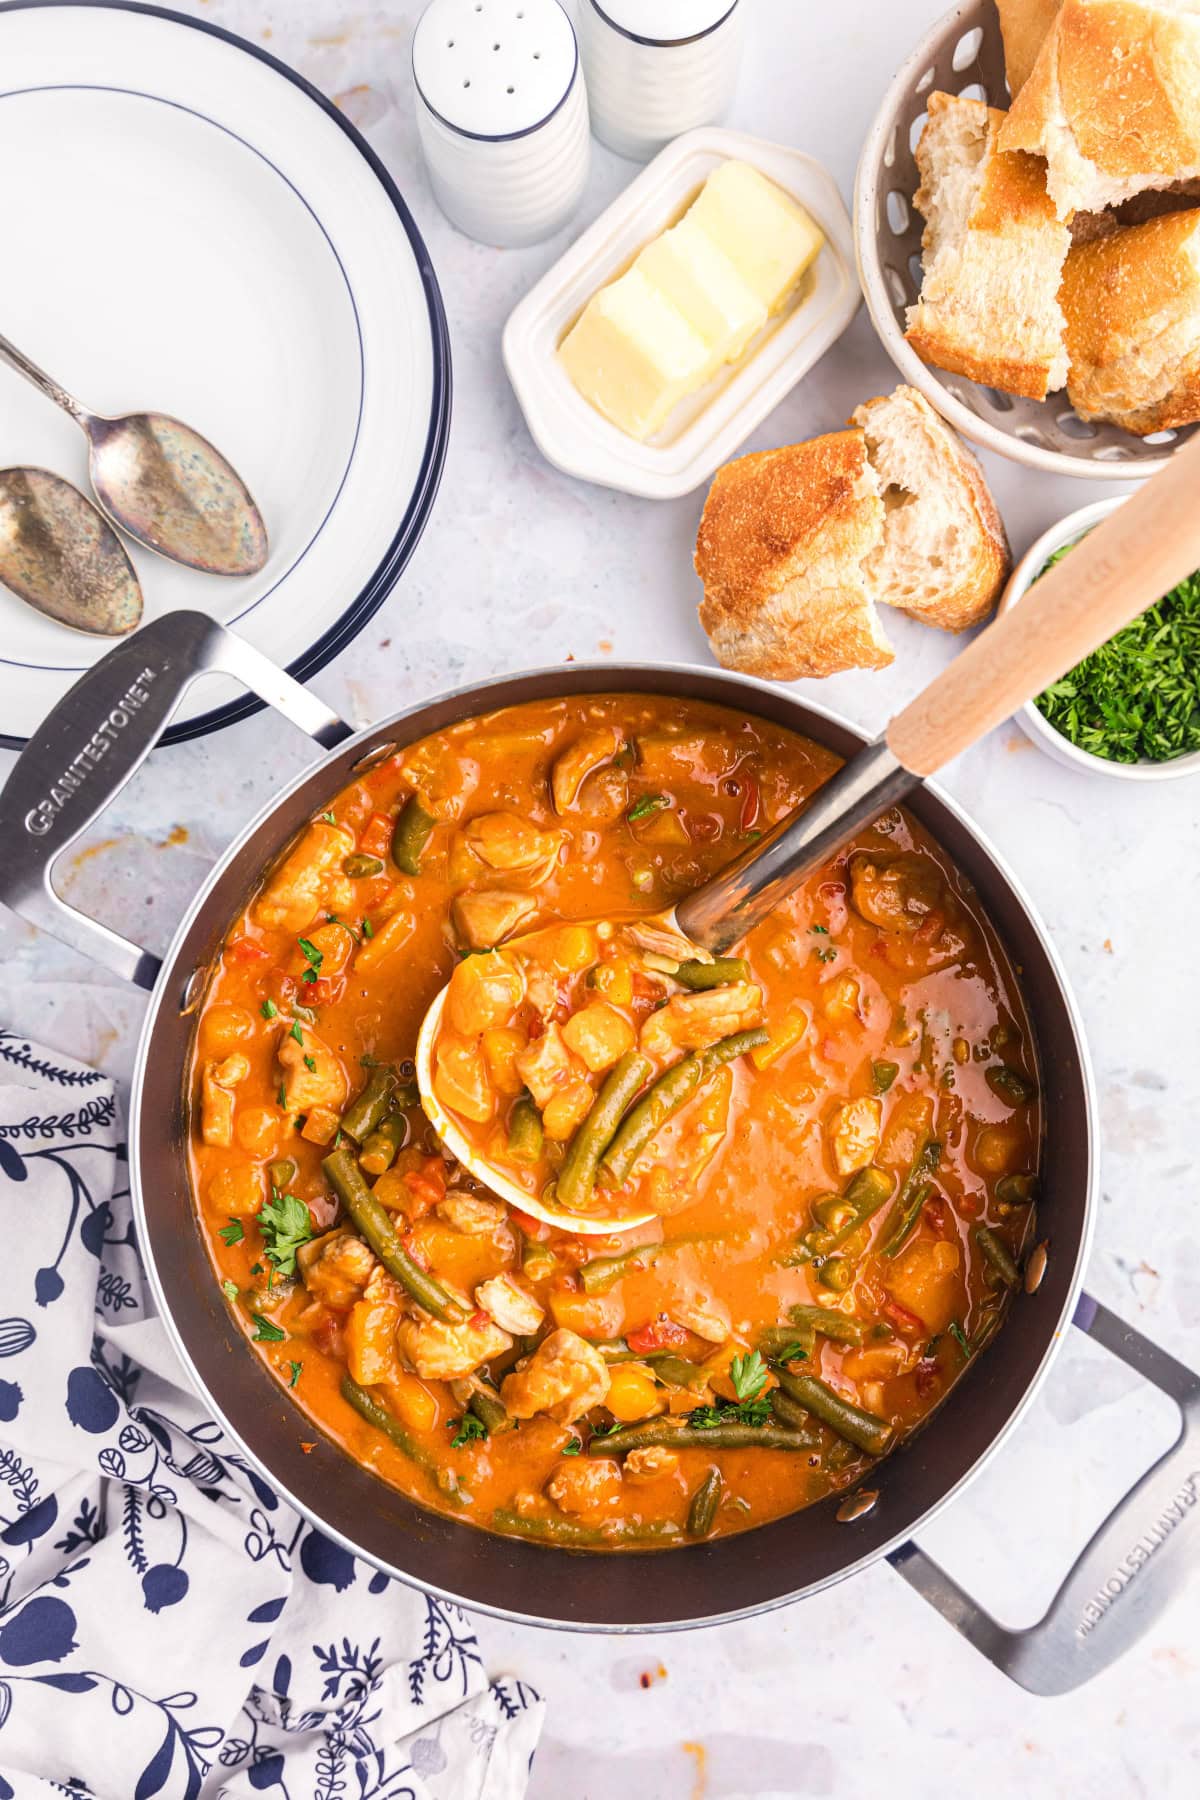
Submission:
<svg viewBox="0 0 1200 1800">
<path fill-rule="evenodd" d="M 349 644 L 380 610 L 403 574 L 408 558 L 416 551 L 437 497 L 443 466 L 446 463 L 446 446 L 450 441 L 450 400 L 453 378 L 450 367 L 450 329 L 446 324 L 446 308 L 443 304 L 430 254 L 425 248 L 425 239 L 421 238 L 416 220 L 405 205 L 396 182 L 380 162 L 362 131 L 358 131 L 358 128 L 353 126 L 351 121 L 338 112 L 333 101 L 315 88 L 311 81 L 306 81 L 304 76 L 295 72 L 295 68 L 281 63 L 277 56 L 272 56 L 268 50 L 261 50 L 257 43 L 248 43 L 232 31 L 225 31 L 223 25 L 212 25 L 203 18 L 187 18 L 184 13 L 173 13 L 171 7 L 151 5 L 146 4 L 146 0 L 0 0 L 0 13 L 32 13 L 59 5 L 86 5 L 106 9 L 110 13 L 144 13 L 149 18 L 166 18 L 175 25 L 187 25 L 189 31 L 201 31 L 209 38 L 221 38 L 223 43 L 232 43 L 236 50 L 245 50 L 245 54 L 252 56 L 255 61 L 266 63 L 268 68 L 272 68 L 277 76 L 282 76 L 284 81 L 290 81 L 291 86 L 299 88 L 300 94 L 313 101 L 313 104 L 318 106 L 327 119 L 333 119 L 338 130 L 349 137 L 351 144 L 396 209 L 396 216 L 399 218 L 399 223 L 408 238 L 417 274 L 421 277 L 421 286 L 425 288 L 434 353 L 434 394 L 421 468 L 417 470 L 417 479 L 414 482 L 408 506 L 405 508 L 405 515 L 367 585 L 349 603 L 345 612 L 342 612 L 340 617 L 335 619 L 326 632 L 322 632 L 317 643 L 309 644 L 309 648 L 304 650 L 295 662 L 288 664 L 288 675 L 293 675 L 295 680 L 308 680 L 331 662 L 333 657 L 344 650 L 345 644 Z M 250 718 L 254 713 L 261 713 L 263 709 L 264 702 L 254 695 L 245 695 L 239 700 L 228 700 L 225 706 L 218 706 L 210 713 L 200 713 L 196 718 L 171 725 L 162 734 L 160 747 L 167 743 L 185 743 L 189 738 L 205 738 L 209 733 L 223 731 L 225 725 L 234 725 L 243 718 Z M 27 742 L 27 738 L 14 738 L 9 733 L 0 733 L 2 749 L 22 751 Z"/>
</svg>

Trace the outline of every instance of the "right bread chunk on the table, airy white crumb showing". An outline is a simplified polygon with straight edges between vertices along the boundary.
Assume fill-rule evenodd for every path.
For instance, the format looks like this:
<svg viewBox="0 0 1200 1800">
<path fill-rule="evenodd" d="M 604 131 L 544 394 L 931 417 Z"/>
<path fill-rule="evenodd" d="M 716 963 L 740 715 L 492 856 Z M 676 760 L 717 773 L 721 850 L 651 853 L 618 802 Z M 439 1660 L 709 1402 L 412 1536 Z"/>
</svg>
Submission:
<svg viewBox="0 0 1200 1800">
<path fill-rule="evenodd" d="M 864 562 L 869 590 L 945 632 L 979 625 L 1011 562 L 982 468 L 914 387 L 867 400 L 853 423 L 883 500 L 883 535 Z"/>
</svg>

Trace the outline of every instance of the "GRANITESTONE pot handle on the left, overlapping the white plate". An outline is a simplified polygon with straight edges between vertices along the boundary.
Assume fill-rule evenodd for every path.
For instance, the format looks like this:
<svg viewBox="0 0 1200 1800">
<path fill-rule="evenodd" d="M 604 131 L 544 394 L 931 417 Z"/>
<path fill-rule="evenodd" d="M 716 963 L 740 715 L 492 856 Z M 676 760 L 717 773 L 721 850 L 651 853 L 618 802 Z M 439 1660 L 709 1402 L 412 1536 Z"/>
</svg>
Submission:
<svg viewBox="0 0 1200 1800">
<path fill-rule="evenodd" d="M 142 988 L 160 959 L 68 905 L 50 886 L 61 853 L 153 751 L 182 695 L 221 673 L 331 749 L 351 727 L 270 657 L 205 612 L 167 612 L 115 644 L 31 736 L 0 792 L 0 900 Z"/>
</svg>

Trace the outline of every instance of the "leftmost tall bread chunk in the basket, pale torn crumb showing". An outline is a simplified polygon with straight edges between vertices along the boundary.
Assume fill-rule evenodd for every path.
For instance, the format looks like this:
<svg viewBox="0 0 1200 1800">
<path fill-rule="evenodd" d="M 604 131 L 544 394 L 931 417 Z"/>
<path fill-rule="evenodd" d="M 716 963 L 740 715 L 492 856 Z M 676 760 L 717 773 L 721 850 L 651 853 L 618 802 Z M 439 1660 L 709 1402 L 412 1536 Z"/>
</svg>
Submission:
<svg viewBox="0 0 1200 1800">
<path fill-rule="evenodd" d="M 1070 234 L 1045 166 L 997 149 L 1002 121 L 982 101 L 928 97 L 916 149 L 925 279 L 905 337 L 937 369 L 1045 400 L 1067 380 L 1058 283 Z"/>
</svg>

